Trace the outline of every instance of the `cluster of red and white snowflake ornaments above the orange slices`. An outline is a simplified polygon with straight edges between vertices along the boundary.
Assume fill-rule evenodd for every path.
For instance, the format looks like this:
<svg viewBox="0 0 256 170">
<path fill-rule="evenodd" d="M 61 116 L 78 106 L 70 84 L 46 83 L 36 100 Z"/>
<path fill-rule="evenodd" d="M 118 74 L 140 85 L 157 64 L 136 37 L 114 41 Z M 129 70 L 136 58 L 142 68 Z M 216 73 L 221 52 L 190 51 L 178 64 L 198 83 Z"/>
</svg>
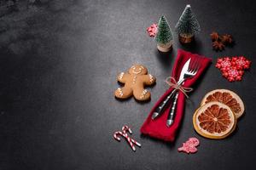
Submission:
<svg viewBox="0 0 256 170">
<path fill-rule="evenodd" d="M 222 71 L 223 77 L 230 82 L 241 81 L 244 70 L 249 69 L 251 61 L 244 56 L 224 57 L 217 59 L 216 67 Z"/>
</svg>

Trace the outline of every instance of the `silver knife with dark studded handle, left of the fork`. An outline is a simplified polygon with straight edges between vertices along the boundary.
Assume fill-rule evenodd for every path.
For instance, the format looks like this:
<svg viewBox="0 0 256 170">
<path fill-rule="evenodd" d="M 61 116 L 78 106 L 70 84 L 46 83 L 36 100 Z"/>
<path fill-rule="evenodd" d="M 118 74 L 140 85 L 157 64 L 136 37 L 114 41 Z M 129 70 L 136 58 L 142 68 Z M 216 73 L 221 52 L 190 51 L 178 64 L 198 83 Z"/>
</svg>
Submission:
<svg viewBox="0 0 256 170">
<path fill-rule="evenodd" d="M 191 58 L 189 58 L 186 63 L 183 65 L 183 69 L 182 71 L 180 72 L 180 76 L 178 78 L 178 82 L 177 84 L 180 85 L 182 84 L 183 82 L 181 82 L 183 80 L 183 77 L 184 77 L 184 74 L 185 74 L 185 71 L 188 71 L 189 69 L 189 63 L 190 63 L 190 60 Z M 169 94 L 166 99 L 155 109 L 153 115 L 151 116 L 152 119 L 155 119 L 156 117 L 160 116 L 163 111 L 166 109 L 166 106 L 170 103 L 172 97 L 173 97 L 173 94 L 175 94 L 177 91 L 177 89 L 174 89 L 172 91 L 171 94 Z"/>
</svg>

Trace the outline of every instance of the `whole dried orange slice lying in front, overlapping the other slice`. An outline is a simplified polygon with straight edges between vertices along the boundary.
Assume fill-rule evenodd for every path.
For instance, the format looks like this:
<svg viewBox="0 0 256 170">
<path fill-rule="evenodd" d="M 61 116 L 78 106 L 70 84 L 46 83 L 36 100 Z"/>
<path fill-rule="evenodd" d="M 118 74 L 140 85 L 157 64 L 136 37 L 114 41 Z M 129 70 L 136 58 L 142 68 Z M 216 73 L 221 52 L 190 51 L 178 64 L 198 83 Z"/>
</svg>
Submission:
<svg viewBox="0 0 256 170">
<path fill-rule="evenodd" d="M 236 127 L 236 116 L 228 105 L 213 101 L 202 105 L 193 116 L 195 131 L 209 139 L 223 139 Z"/>
</svg>

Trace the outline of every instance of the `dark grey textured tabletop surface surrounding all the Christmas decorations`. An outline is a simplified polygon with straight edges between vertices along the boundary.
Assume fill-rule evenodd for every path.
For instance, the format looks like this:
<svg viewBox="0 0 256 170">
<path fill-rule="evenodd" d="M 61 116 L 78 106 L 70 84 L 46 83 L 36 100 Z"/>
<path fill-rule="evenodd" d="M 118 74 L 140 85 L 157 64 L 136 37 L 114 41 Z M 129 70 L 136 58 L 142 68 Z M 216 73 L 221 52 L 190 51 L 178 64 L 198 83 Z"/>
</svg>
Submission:
<svg viewBox="0 0 256 170">
<path fill-rule="evenodd" d="M 165 14 L 172 30 L 186 3 L 201 23 L 196 43 L 175 38 L 171 54 L 159 54 L 146 28 Z M 253 169 L 256 157 L 256 14 L 252 1 L 30 0 L 0 2 L 0 169 Z M 230 33 L 234 48 L 212 51 L 211 31 Z M 143 137 L 139 128 L 172 71 L 177 48 L 213 59 L 187 100 L 175 143 Z M 218 57 L 253 60 L 242 82 L 228 82 L 215 67 Z M 116 75 L 133 63 L 157 77 L 152 99 L 140 104 L 113 97 Z M 227 139 L 203 139 L 192 115 L 209 90 L 229 88 L 241 96 L 246 114 Z M 133 153 L 113 139 L 125 123 L 143 147 Z M 195 155 L 177 152 L 191 136 Z"/>
</svg>

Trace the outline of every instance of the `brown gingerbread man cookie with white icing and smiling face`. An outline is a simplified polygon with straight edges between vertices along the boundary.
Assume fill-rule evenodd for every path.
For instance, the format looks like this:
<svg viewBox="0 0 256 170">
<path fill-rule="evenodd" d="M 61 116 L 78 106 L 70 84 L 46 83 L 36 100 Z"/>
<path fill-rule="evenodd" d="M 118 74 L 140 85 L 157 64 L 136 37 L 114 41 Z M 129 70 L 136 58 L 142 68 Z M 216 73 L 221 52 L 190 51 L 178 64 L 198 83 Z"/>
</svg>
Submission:
<svg viewBox="0 0 256 170">
<path fill-rule="evenodd" d="M 125 86 L 114 92 L 116 98 L 127 99 L 133 95 L 140 101 L 150 99 L 150 92 L 144 88 L 144 85 L 155 83 L 155 77 L 148 74 L 148 69 L 143 65 L 132 65 L 128 72 L 121 72 L 117 80 Z"/>
</svg>

